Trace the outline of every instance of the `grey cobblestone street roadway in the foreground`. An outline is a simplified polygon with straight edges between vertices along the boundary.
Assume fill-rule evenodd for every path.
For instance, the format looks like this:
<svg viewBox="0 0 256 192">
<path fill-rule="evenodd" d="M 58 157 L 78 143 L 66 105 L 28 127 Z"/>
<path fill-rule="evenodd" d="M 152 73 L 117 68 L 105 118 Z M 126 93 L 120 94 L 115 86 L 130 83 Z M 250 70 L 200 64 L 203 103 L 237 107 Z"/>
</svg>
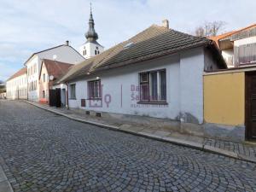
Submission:
<svg viewBox="0 0 256 192">
<path fill-rule="evenodd" d="M 0 101 L 0 164 L 15 191 L 256 191 L 256 165 Z"/>
</svg>

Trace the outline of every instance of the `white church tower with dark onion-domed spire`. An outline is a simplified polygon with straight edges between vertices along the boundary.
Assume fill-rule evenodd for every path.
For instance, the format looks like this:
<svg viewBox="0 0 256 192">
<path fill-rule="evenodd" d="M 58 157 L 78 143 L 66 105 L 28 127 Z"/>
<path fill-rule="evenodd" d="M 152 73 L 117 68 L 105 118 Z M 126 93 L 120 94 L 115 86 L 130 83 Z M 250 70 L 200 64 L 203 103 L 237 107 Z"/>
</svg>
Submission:
<svg viewBox="0 0 256 192">
<path fill-rule="evenodd" d="M 104 51 L 104 47 L 99 44 L 96 40 L 98 39 L 98 34 L 95 31 L 95 23 L 91 11 L 90 3 L 90 19 L 89 19 L 89 30 L 84 34 L 87 41 L 80 46 L 79 53 L 84 56 L 85 59 L 89 59 L 92 56 L 99 55 Z"/>
</svg>

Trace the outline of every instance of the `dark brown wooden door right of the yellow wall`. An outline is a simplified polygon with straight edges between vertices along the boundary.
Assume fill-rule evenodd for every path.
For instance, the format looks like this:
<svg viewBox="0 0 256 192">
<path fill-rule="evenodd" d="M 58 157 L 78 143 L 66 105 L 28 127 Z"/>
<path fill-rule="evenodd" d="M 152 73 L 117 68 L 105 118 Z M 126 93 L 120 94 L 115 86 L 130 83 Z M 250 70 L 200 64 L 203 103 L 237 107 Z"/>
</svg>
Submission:
<svg viewBox="0 0 256 192">
<path fill-rule="evenodd" d="M 246 73 L 246 137 L 256 139 L 256 73 Z"/>
</svg>

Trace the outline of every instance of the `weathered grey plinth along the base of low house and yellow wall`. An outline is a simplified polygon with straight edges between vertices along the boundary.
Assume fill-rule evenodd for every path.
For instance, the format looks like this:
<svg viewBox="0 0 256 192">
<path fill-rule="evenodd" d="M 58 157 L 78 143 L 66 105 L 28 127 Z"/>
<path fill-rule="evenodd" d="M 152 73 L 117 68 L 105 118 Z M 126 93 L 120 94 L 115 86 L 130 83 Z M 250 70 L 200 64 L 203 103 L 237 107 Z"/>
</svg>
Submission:
<svg viewBox="0 0 256 192">
<path fill-rule="evenodd" d="M 86 114 L 84 109 L 74 109 L 79 113 Z M 91 117 L 96 116 L 96 111 L 89 111 Z M 129 124 L 134 126 L 148 126 L 148 128 L 168 130 L 168 131 L 178 131 L 180 133 L 196 136 L 196 137 L 207 137 L 214 139 L 223 139 L 232 142 L 243 142 L 245 141 L 245 126 L 231 126 L 231 125 L 218 125 L 218 124 L 196 124 L 194 122 L 184 123 L 178 120 L 172 119 L 158 119 L 151 118 L 148 116 L 139 115 L 128 115 L 119 113 L 107 113 L 100 112 L 102 117 L 108 119 L 110 123 L 118 122 L 117 124 Z"/>
</svg>

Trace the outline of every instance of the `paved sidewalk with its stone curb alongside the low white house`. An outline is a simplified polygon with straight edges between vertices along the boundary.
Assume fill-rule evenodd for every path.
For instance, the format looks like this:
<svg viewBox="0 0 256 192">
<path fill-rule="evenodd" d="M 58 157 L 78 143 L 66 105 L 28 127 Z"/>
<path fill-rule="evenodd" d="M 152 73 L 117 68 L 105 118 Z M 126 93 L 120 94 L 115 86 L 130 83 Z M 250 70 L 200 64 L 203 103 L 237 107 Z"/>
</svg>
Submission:
<svg viewBox="0 0 256 192">
<path fill-rule="evenodd" d="M 24 102 L 38 108 L 43 108 L 49 112 L 60 114 L 68 119 L 77 120 L 90 125 L 97 125 L 115 131 L 123 131 L 137 136 L 153 138 L 167 143 L 183 145 L 189 148 L 196 148 L 238 160 L 256 163 L 256 143 L 232 143 L 216 139 L 193 137 L 168 129 L 158 129 L 144 124 L 137 124 L 125 119 L 96 117 L 87 115 L 85 112 L 80 113 L 66 108 L 52 108 L 48 105 L 39 104 L 38 102 Z"/>
</svg>

